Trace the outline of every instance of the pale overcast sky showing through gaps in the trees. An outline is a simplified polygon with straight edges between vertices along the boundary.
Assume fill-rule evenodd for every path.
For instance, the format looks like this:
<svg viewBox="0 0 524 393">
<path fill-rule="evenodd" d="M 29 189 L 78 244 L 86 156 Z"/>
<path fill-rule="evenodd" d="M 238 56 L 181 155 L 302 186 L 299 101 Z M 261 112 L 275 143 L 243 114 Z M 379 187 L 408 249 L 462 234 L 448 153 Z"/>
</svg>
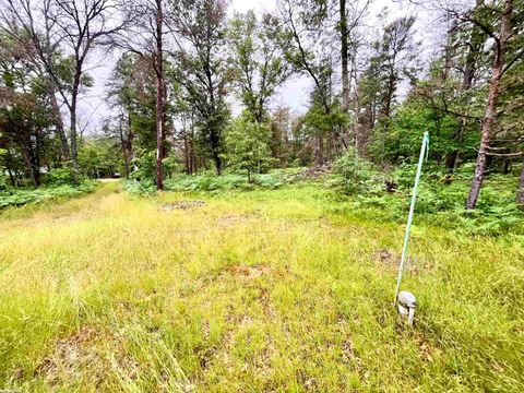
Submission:
<svg viewBox="0 0 524 393">
<path fill-rule="evenodd" d="M 229 5 L 229 15 L 235 12 L 246 12 L 253 9 L 257 14 L 265 11 L 272 11 L 276 7 L 276 0 L 231 0 Z M 413 4 L 393 0 L 374 0 L 370 9 L 370 20 L 368 24 L 371 25 L 370 32 L 374 32 L 377 37 L 368 37 L 369 40 L 378 38 L 380 34 L 380 25 L 385 21 L 378 21 L 376 15 L 386 7 L 390 11 L 389 17 L 393 20 L 405 14 L 414 14 L 417 12 L 418 21 L 416 24 L 417 37 L 422 41 L 422 60 L 427 60 L 438 47 L 438 35 L 434 32 L 439 31 L 436 17 L 425 11 L 416 10 Z M 376 26 L 376 28 L 373 28 Z M 373 34 L 373 33 L 372 33 Z M 91 133 L 100 128 L 102 120 L 110 115 L 110 109 L 105 103 L 106 83 L 115 66 L 116 58 L 114 56 L 106 56 L 100 58 L 94 56 L 91 60 L 88 73 L 94 76 L 95 85 L 82 98 L 80 107 L 81 123 L 90 123 L 86 132 Z M 303 76 L 295 76 L 283 85 L 271 102 L 271 107 L 289 106 L 296 111 L 303 111 L 308 104 L 310 92 L 310 81 Z M 231 98 L 233 100 L 233 98 Z M 231 103 L 234 115 L 238 114 L 240 106 Z"/>
</svg>

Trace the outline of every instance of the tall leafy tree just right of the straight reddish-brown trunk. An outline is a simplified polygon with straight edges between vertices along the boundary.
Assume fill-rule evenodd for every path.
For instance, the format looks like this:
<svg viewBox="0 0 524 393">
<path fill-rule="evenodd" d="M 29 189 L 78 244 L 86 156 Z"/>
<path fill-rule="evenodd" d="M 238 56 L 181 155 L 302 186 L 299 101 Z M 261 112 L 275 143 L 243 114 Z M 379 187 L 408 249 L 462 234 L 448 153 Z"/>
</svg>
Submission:
<svg viewBox="0 0 524 393">
<path fill-rule="evenodd" d="M 223 169 L 224 129 L 229 118 L 225 100 L 231 81 L 225 58 L 226 7 L 221 0 L 172 2 L 174 39 L 177 49 L 175 79 L 195 108 L 195 124 L 202 150 Z"/>
</svg>

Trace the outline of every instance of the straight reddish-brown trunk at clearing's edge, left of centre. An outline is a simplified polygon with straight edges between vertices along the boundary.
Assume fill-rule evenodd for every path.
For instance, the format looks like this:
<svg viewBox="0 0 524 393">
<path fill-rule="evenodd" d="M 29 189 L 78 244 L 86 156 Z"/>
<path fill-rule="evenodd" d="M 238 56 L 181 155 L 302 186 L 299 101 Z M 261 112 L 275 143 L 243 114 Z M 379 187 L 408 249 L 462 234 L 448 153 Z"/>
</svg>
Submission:
<svg viewBox="0 0 524 393">
<path fill-rule="evenodd" d="M 156 73 L 156 189 L 164 189 L 164 174 L 162 159 L 164 158 L 164 64 L 162 48 L 162 27 L 164 14 L 162 10 L 162 0 L 156 0 L 156 53 L 155 53 L 155 73 Z"/>
</svg>

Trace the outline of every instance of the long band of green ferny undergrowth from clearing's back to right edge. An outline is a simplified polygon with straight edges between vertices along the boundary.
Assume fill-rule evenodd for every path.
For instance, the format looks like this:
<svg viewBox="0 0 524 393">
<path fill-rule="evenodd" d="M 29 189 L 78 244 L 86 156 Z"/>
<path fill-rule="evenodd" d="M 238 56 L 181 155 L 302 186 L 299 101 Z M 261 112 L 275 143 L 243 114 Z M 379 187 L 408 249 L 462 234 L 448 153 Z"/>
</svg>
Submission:
<svg viewBox="0 0 524 393">
<path fill-rule="evenodd" d="M 424 168 L 415 205 L 416 222 L 466 235 L 501 236 L 524 234 L 524 211 L 515 203 L 516 176 L 489 175 L 477 209 L 465 210 L 473 168 L 457 170 L 450 183 L 436 167 Z M 305 168 L 273 170 L 265 175 L 179 175 L 165 180 L 165 189 L 181 192 L 245 192 L 274 190 L 308 183 L 333 190 L 333 214 L 360 216 L 377 222 L 404 223 L 409 210 L 416 165 L 405 164 L 393 171 L 379 170 L 364 160 L 341 159 L 332 174 L 308 177 Z M 153 181 L 127 181 L 134 194 L 154 194 Z"/>
</svg>

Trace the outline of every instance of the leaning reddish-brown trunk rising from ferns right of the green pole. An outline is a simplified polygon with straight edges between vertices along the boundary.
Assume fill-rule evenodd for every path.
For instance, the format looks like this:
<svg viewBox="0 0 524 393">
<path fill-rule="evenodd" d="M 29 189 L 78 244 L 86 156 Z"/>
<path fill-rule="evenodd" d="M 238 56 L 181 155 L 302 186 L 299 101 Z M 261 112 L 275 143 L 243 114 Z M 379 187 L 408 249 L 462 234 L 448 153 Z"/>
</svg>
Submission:
<svg viewBox="0 0 524 393">
<path fill-rule="evenodd" d="M 486 171 L 486 162 L 488 157 L 488 147 L 493 132 L 495 117 L 497 116 L 497 103 L 499 99 L 500 80 L 504 67 L 505 50 L 508 37 L 511 31 L 511 16 L 513 12 L 513 0 L 505 0 L 504 11 L 500 23 L 500 34 L 496 43 L 495 61 L 492 66 L 491 81 L 489 82 L 488 102 L 486 104 L 486 114 L 483 119 L 480 147 L 478 148 L 477 165 L 473 178 L 469 195 L 466 201 L 466 209 L 475 209 L 480 193 Z"/>
</svg>

